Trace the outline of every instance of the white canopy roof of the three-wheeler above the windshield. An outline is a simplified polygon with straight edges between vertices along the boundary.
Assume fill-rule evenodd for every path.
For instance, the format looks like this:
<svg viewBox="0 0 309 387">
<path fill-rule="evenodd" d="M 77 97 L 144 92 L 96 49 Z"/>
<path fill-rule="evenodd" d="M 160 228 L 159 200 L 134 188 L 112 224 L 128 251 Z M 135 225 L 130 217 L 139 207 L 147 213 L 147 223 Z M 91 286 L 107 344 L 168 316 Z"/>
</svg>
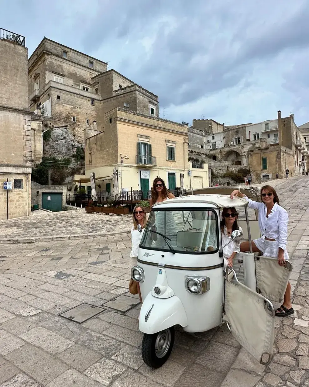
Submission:
<svg viewBox="0 0 309 387">
<path fill-rule="evenodd" d="M 248 200 L 236 197 L 234 199 L 230 198 L 230 195 L 187 195 L 180 196 L 172 200 L 165 200 L 164 202 L 157 203 L 153 205 L 153 209 L 159 207 L 183 207 L 183 205 L 190 206 L 190 204 L 212 204 L 216 207 L 244 207 Z"/>
</svg>

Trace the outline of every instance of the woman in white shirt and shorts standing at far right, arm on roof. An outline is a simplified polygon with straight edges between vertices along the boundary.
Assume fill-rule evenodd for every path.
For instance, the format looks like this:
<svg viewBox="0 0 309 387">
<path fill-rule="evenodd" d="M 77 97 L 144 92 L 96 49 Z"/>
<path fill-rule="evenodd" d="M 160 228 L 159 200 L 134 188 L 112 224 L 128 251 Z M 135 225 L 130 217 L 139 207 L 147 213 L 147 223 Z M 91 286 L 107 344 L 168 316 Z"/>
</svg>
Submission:
<svg viewBox="0 0 309 387">
<path fill-rule="evenodd" d="M 278 195 L 274 188 L 270 185 L 264 185 L 261 188 L 262 203 L 248 199 L 239 190 L 234 190 L 231 193 L 231 199 L 234 197 L 246 198 L 249 202 L 248 207 L 258 210 L 258 224 L 263 236 L 252 241 L 253 252 L 262 252 L 265 257 L 277 257 L 278 264 L 284 266 L 285 260 L 289 260 L 289 254 L 287 252 L 287 224 L 289 223 L 289 215 L 279 205 Z M 249 251 L 249 242 L 241 243 L 240 250 L 242 252 Z M 276 316 L 288 316 L 292 313 L 294 313 L 294 309 L 291 304 L 291 285 L 288 283 L 283 304 L 276 310 Z"/>
</svg>

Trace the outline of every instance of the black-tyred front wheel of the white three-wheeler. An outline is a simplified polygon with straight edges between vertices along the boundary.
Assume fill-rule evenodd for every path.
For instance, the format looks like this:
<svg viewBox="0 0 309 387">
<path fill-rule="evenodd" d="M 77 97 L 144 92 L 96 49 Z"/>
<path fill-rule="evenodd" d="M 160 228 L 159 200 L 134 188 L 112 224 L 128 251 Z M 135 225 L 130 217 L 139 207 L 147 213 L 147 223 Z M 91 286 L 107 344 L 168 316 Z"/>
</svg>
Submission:
<svg viewBox="0 0 309 387">
<path fill-rule="evenodd" d="M 149 367 L 161 367 L 171 354 L 175 341 L 174 327 L 161 330 L 149 335 L 144 334 L 142 342 L 142 356 Z"/>
</svg>

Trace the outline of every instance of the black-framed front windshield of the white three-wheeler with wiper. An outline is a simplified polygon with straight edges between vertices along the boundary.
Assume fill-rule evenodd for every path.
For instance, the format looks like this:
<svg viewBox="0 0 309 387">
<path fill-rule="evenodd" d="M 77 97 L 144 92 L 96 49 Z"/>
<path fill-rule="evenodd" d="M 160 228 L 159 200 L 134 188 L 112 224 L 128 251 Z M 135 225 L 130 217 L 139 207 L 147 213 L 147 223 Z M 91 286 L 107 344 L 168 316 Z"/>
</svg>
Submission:
<svg viewBox="0 0 309 387">
<path fill-rule="evenodd" d="M 151 211 L 140 247 L 181 253 L 213 253 L 219 247 L 216 212 L 178 208 Z"/>
</svg>

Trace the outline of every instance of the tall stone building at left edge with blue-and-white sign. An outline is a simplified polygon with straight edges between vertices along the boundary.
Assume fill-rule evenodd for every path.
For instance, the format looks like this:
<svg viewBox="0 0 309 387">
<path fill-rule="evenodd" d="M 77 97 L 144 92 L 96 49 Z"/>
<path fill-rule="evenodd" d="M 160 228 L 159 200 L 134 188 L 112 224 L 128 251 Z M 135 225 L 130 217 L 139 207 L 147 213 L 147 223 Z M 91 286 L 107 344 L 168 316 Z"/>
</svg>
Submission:
<svg viewBox="0 0 309 387">
<path fill-rule="evenodd" d="M 0 220 L 31 213 L 31 112 L 25 38 L 0 29 Z M 4 183 L 12 182 L 12 190 Z M 8 199 L 8 202 L 7 202 Z"/>
</svg>

